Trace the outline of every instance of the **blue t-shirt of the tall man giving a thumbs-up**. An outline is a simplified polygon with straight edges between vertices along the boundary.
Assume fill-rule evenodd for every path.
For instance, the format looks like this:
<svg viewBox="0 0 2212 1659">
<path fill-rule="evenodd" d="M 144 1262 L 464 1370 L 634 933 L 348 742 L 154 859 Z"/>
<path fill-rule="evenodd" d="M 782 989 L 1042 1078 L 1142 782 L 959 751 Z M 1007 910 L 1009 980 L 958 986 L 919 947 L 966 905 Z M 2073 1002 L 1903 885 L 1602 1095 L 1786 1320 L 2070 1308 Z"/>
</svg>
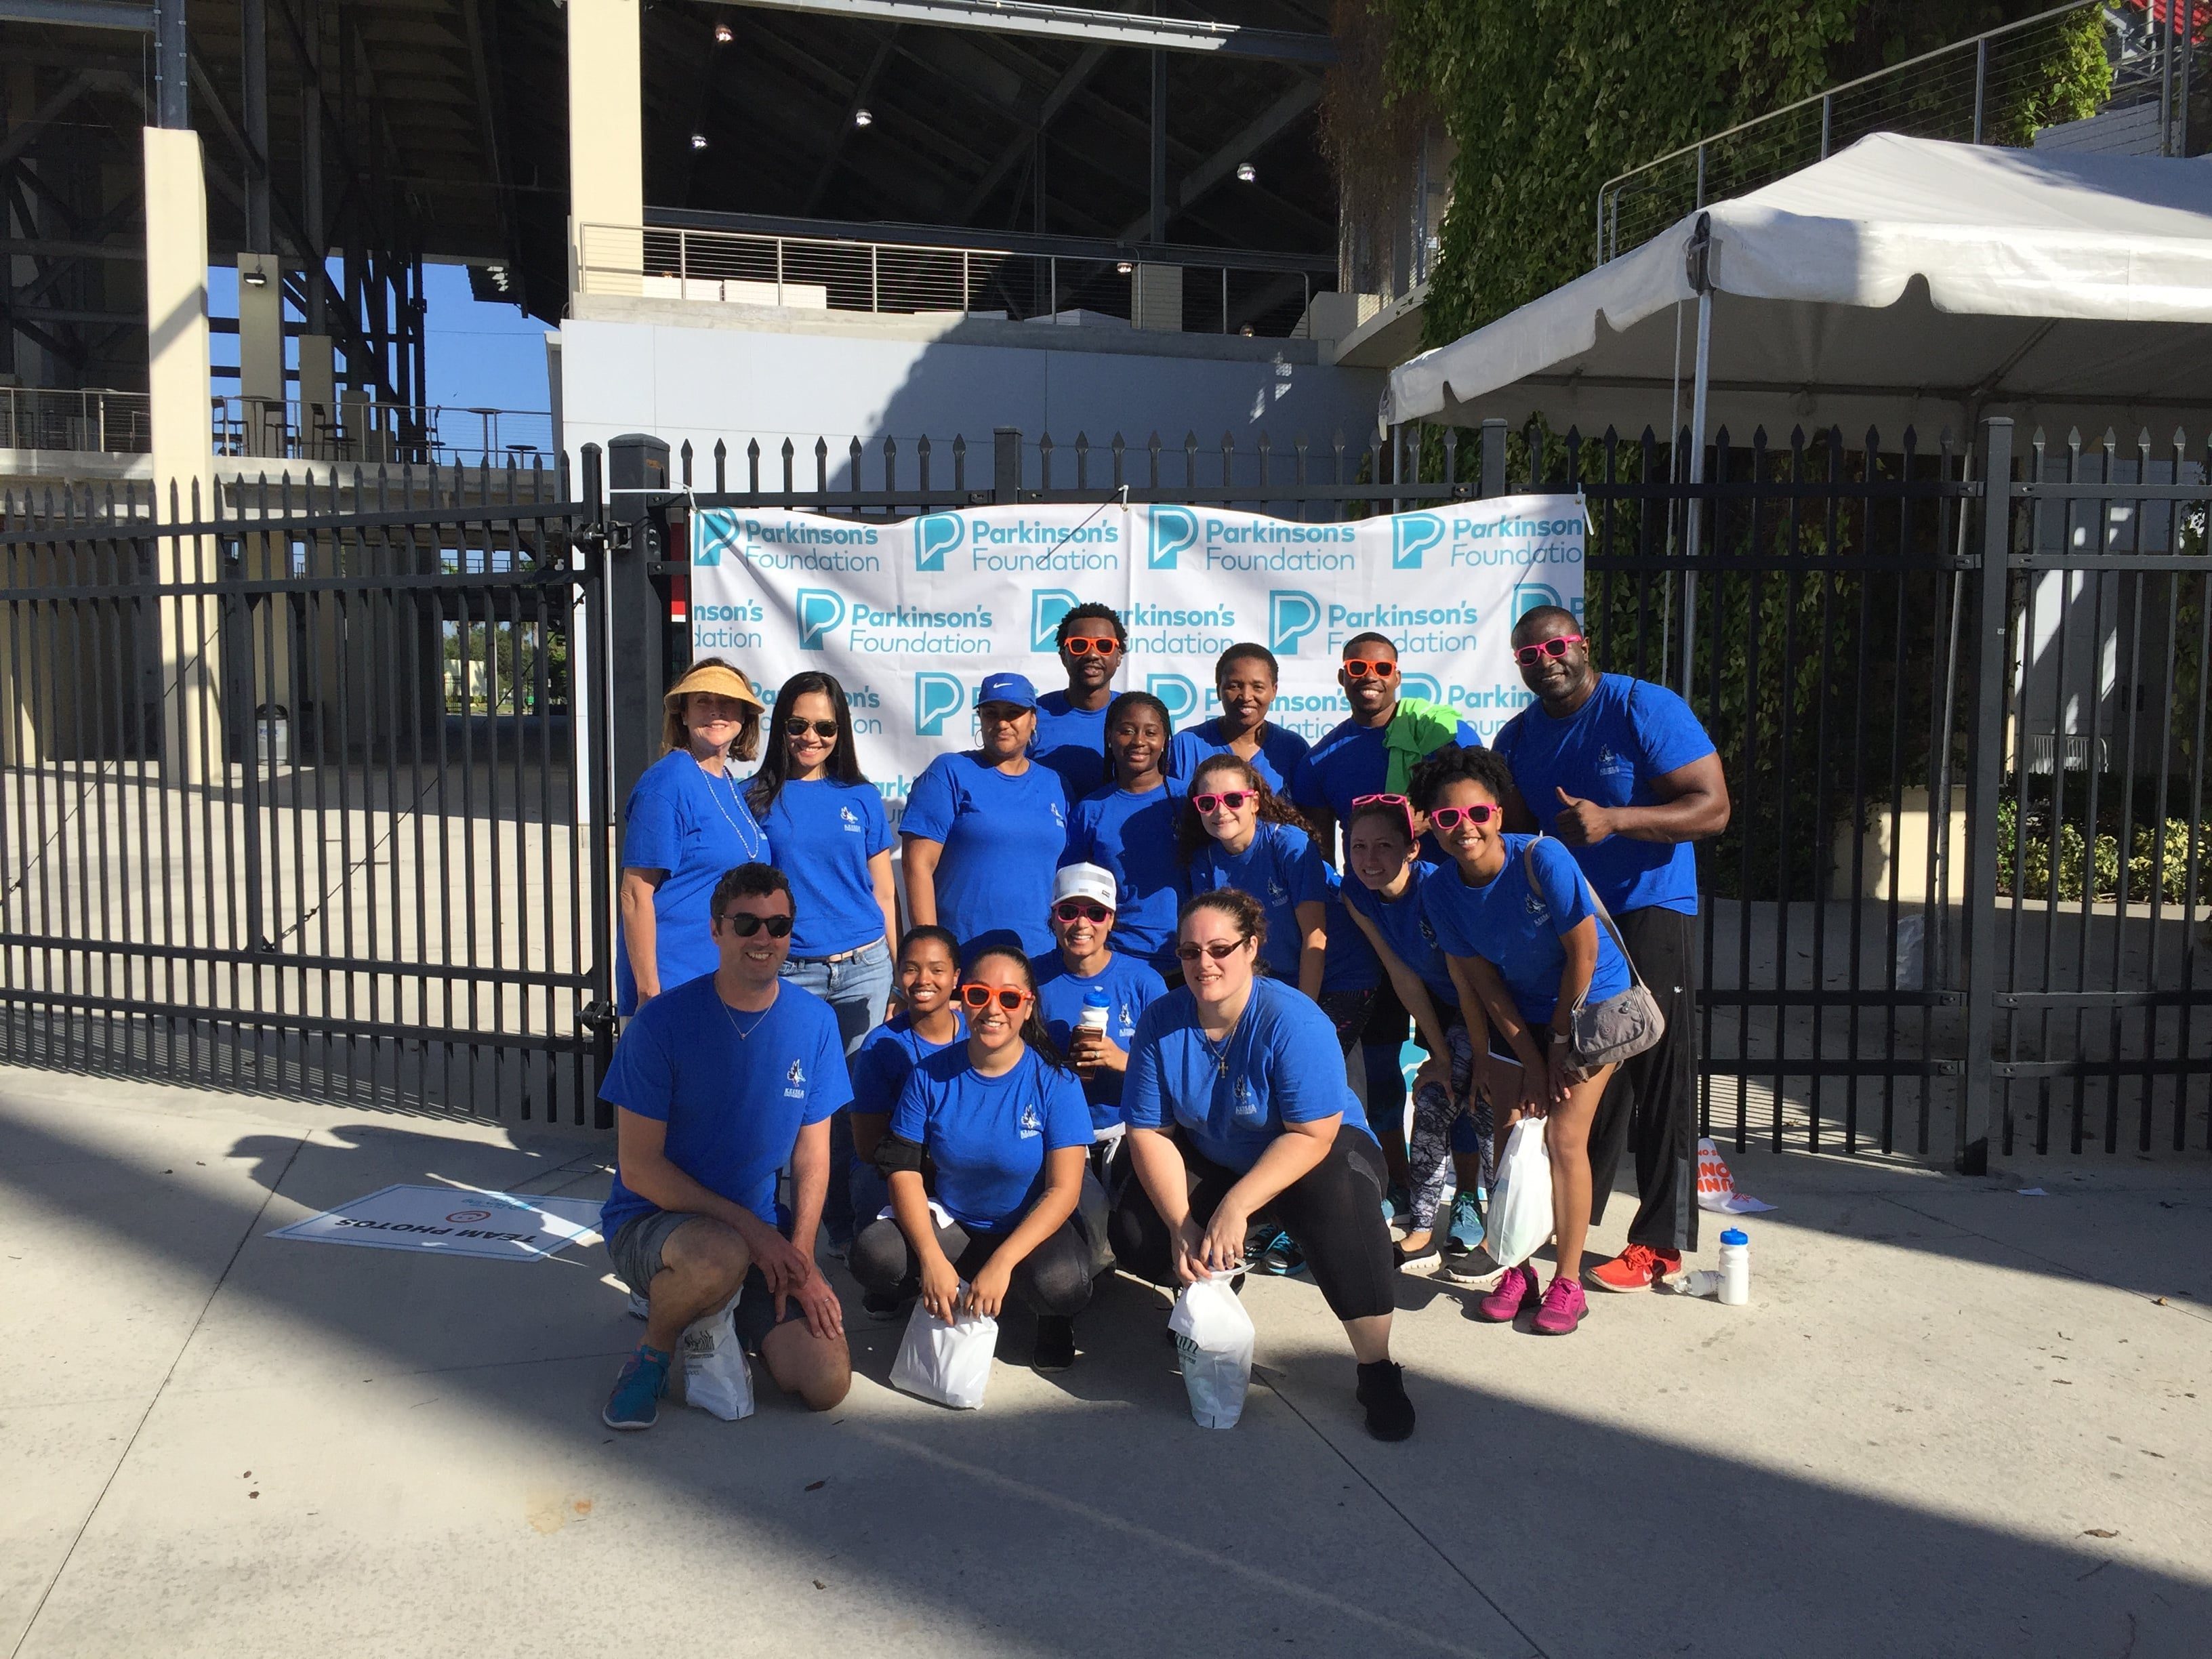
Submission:
<svg viewBox="0 0 2212 1659">
<path fill-rule="evenodd" d="M 1601 807 L 1655 807 L 1655 776 L 1714 752 L 1681 697 L 1628 675 L 1599 675 L 1597 690 L 1564 721 L 1531 703 L 1500 728 L 1491 748 L 1513 768 L 1522 801 L 1546 830 L 1559 812 L 1559 790 Z M 1688 841 L 1606 836 L 1571 852 L 1615 916 L 1650 907 L 1697 916 L 1697 849 Z"/>
</svg>

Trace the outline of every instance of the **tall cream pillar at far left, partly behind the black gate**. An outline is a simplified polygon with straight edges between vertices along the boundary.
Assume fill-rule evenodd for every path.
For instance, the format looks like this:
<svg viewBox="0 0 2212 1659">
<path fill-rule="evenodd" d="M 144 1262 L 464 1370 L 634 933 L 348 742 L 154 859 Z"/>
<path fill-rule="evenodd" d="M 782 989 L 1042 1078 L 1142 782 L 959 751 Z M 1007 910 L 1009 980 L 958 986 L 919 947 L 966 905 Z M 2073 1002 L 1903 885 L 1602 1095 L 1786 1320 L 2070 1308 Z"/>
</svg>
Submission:
<svg viewBox="0 0 2212 1659">
<path fill-rule="evenodd" d="M 153 405 L 155 515 L 206 520 L 215 509 L 208 405 L 208 179 L 199 135 L 148 126 L 146 148 L 146 383 Z M 170 504 L 175 502 L 175 507 Z M 215 540 L 159 542 L 164 582 L 215 580 Z M 161 772 L 179 783 L 221 776 L 215 701 L 217 608 L 208 597 L 159 606 Z"/>
</svg>

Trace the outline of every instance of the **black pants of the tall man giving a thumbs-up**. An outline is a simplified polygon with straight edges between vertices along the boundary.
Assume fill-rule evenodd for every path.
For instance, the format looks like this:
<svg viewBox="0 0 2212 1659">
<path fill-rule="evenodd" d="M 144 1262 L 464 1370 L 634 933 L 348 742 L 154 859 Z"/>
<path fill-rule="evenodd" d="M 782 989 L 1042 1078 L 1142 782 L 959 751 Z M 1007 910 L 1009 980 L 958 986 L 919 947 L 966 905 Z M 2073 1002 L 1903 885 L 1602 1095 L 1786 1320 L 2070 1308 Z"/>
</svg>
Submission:
<svg viewBox="0 0 2212 1659">
<path fill-rule="evenodd" d="M 1613 918 L 1644 984 L 1659 998 L 1666 1035 L 1624 1060 L 1590 1121 L 1590 1221 L 1606 1214 L 1621 1152 L 1637 1161 L 1637 1217 L 1628 1243 L 1697 1250 L 1697 918 L 1630 909 Z"/>
</svg>

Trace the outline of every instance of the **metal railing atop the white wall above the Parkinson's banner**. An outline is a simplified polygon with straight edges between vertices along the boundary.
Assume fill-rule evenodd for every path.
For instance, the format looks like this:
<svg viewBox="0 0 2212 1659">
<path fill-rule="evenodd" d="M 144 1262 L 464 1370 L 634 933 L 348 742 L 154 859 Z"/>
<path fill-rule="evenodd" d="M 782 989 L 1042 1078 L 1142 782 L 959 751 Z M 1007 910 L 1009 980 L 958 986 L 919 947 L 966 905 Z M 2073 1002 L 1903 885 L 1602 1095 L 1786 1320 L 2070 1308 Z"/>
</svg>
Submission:
<svg viewBox="0 0 2212 1659">
<path fill-rule="evenodd" d="M 1128 323 L 1168 334 L 1303 338 L 1325 270 L 1148 261 L 752 230 L 582 226 L 577 292 L 878 316 Z"/>
</svg>

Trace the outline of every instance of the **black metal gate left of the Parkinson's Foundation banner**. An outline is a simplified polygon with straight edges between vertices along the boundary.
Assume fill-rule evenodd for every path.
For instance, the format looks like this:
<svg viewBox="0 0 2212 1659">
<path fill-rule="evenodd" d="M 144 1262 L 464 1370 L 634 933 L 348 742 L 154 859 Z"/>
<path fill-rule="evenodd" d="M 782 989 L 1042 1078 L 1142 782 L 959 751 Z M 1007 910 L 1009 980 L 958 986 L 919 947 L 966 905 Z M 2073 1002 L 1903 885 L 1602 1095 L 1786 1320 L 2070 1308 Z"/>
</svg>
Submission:
<svg viewBox="0 0 2212 1659">
<path fill-rule="evenodd" d="M 595 1121 L 606 615 L 566 493 L 0 504 L 0 1057 Z"/>
</svg>

